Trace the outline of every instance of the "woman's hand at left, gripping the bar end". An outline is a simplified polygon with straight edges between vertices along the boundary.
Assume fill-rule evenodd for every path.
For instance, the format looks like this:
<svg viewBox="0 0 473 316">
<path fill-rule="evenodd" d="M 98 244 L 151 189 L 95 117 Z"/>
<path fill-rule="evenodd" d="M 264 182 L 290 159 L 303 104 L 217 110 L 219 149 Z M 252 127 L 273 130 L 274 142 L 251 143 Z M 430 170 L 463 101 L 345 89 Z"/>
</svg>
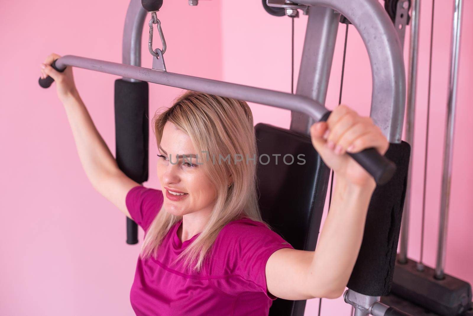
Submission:
<svg viewBox="0 0 473 316">
<path fill-rule="evenodd" d="M 51 76 L 56 81 L 56 92 L 59 99 L 64 102 L 70 97 L 77 97 L 79 93 L 74 83 L 74 76 L 72 75 L 72 67 L 66 67 L 64 72 L 58 72 L 51 67 L 54 60 L 60 58 L 58 54 L 50 54 L 41 64 L 41 78 L 45 79 L 47 76 Z"/>
</svg>

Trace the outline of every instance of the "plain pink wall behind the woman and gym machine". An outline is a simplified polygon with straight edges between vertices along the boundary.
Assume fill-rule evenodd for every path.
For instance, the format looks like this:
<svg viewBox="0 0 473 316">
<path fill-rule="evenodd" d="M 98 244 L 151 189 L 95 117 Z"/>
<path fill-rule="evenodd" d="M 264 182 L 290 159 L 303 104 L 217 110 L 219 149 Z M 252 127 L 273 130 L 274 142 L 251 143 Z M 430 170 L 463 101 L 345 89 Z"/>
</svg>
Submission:
<svg viewBox="0 0 473 316">
<path fill-rule="evenodd" d="M 420 14 L 412 259 L 418 259 L 420 250 L 430 2 L 422 1 Z M 88 182 L 55 89 L 43 90 L 37 84 L 40 63 L 52 52 L 121 62 L 127 7 L 125 0 L 83 0 L 80 5 L 59 0 L 8 1 L 2 6 L 0 315 L 133 315 L 129 291 L 139 245 L 125 244 L 125 217 Z M 424 254 L 430 266 L 435 264 L 438 237 L 452 12 L 453 0 L 436 1 Z M 469 282 L 473 282 L 472 13 L 472 1 L 464 1 L 446 268 Z M 158 18 L 168 47 L 168 71 L 290 91 L 291 22 L 268 15 L 261 1 L 201 1 L 197 7 L 188 6 L 186 0 L 165 1 Z M 296 81 L 306 23 L 303 15 L 295 21 Z M 338 101 L 344 32 L 341 25 L 328 108 Z M 147 38 L 144 27 L 144 67 L 151 66 Z M 409 29 L 406 59 L 408 43 Z M 74 69 L 74 75 L 97 129 L 114 153 L 113 87 L 118 77 L 82 69 Z M 368 115 L 370 66 L 352 26 L 343 88 L 342 102 Z M 181 91 L 150 85 L 150 114 L 171 105 Z M 289 111 L 251 106 L 255 123 L 289 127 Z M 159 189 L 154 157 L 155 140 L 150 137 L 150 176 L 144 185 Z M 350 313 L 342 298 L 324 299 L 322 309 L 322 315 Z M 318 299 L 309 300 L 306 315 L 317 310 Z"/>
</svg>

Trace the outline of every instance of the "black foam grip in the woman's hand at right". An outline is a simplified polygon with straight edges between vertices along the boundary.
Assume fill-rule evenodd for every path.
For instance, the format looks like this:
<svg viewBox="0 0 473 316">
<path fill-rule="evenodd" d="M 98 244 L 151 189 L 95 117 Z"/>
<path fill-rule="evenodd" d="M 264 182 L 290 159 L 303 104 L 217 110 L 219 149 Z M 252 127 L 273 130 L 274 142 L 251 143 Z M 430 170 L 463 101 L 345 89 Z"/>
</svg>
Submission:
<svg viewBox="0 0 473 316">
<path fill-rule="evenodd" d="M 327 121 L 331 113 L 332 111 L 327 111 L 320 121 Z M 367 148 L 359 153 L 347 154 L 371 174 L 378 185 L 387 183 L 396 172 L 395 163 L 382 156 L 376 148 Z"/>
</svg>

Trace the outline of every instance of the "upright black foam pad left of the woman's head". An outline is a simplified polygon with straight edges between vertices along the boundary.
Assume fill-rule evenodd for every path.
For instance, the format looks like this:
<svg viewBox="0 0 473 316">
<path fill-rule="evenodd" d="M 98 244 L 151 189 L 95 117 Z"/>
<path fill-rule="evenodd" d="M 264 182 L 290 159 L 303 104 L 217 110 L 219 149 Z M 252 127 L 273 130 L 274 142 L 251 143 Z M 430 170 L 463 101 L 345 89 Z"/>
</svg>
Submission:
<svg viewBox="0 0 473 316">
<path fill-rule="evenodd" d="M 116 160 L 132 180 L 148 181 L 148 82 L 115 81 Z"/>
</svg>

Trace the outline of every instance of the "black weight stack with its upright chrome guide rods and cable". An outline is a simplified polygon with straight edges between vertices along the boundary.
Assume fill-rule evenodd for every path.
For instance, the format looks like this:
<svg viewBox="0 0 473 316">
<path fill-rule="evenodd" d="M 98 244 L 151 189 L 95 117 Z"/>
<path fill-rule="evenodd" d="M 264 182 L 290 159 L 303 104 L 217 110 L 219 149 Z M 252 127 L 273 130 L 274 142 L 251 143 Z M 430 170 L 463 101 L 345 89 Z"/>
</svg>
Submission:
<svg viewBox="0 0 473 316">
<path fill-rule="evenodd" d="M 392 293 L 383 297 L 382 301 L 389 305 L 394 305 L 403 311 L 418 316 L 456 316 L 473 315 L 472 310 L 472 288 L 468 282 L 457 279 L 444 272 L 446 259 L 446 239 L 448 224 L 448 205 L 450 196 L 450 181 L 452 171 L 452 153 L 453 153 L 453 131 L 455 124 L 455 107 L 456 107 L 456 85 L 457 71 L 460 50 L 460 34 L 462 21 L 462 0 L 454 0 L 454 14 L 452 25 L 452 41 L 450 53 L 450 71 L 447 99 L 447 123 L 445 151 L 443 159 L 443 178 L 441 188 L 440 201 L 440 221 L 438 234 L 437 262 L 435 269 L 425 266 L 422 262 L 423 257 L 423 239 L 424 239 L 424 217 L 425 217 L 425 183 L 426 183 L 426 166 L 427 166 L 427 144 L 425 147 L 425 164 L 424 164 L 424 196 L 422 205 L 422 230 L 421 230 L 421 250 L 420 260 L 415 262 L 407 258 L 407 239 L 409 229 L 410 215 L 410 183 L 408 180 L 408 191 L 406 194 L 406 206 L 404 209 L 400 252 L 394 269 L 394 282 Z M 417 50 L 419 37 L 419 7 L 420 0 L 415 0 L 412 9 L 413 23 L 411 28 L 411 47 L 410 47 L 410 73 L 409 88 L 407 100 L 407 119 L 406 119 L 406 138 L 413 146 L 413 129 L 414 129 L 414 112 L 415 112 L 415 96 L 416 96 L 416 78 L 417 78 Z M 434 8 L 435 0 L 432 0 L 432 18 L 430 29 L 430 65 L 429 65 L 429 101 L 430 101 L 430 75 L 432 63 L 432 39 L 434 26 Z M 427 121 L 429 122 L 429 105 L 427 110 Z M 429 124 L 429 123 L 427 123 Z M 429 125 L 427 125 L 427 135 L 429 133 Z M 415 148 L 415 147 L 413 147 Z M 409 175 L 411 171 L 409 170 Z"/>
</svg>

